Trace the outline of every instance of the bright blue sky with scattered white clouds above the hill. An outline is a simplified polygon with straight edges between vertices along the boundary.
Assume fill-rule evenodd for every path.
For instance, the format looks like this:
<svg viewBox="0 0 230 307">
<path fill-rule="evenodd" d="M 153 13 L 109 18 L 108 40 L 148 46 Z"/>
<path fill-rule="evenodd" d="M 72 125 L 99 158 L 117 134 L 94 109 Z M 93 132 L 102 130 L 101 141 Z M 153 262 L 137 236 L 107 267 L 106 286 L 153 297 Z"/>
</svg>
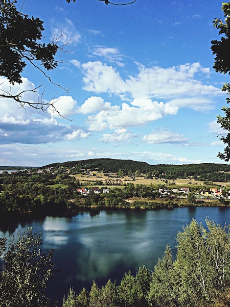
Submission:
<svg viewBox="0 0 230 307">
<path fill-rule="evenodd" d="M 113 0 L 126 3 L 125 0 Z M 128 1 L 129 2 L 129 1 Z M 59 38 L 65 52 L 47 76 L 27 65 L 23 83 L 0 77 L 0 91 L 55 102 L 60 115 L 0 99 L 0 165 L 115 158 L 155 164 L 226 163 L 217 157 L 225 135 L 229 75 L 212 68 L 212 21 L 219 0 L 18 0 L 44 21 L 43 42 Z M 66 46 L 67 44 L 67 46 Z M 66 89 L 66 90 L 65 90 Z"/>
</svg>

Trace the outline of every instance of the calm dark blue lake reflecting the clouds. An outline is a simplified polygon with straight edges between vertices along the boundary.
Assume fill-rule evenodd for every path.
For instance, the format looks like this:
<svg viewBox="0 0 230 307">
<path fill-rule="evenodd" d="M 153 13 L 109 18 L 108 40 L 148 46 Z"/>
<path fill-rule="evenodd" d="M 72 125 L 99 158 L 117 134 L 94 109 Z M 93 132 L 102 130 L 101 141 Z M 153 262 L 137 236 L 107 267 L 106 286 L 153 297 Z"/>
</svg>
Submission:
<svg viewBox="0 0 230 307">
<path fill-rule="evenodd" d="M 119 283 L 130 269 L 136 274 L 146 265 L 154 269 L 165 246 L 176 254 L 176 234 L 192 218 L 205 223 L 230 224 L 230 208 L 197 207 L 171 210 L 123 210 L 84 212 L 72 218 L 54 218 L 3 224 L 0 236 L 33 227 L 43 233 L 43 250 L 54 249 L 56 268 L 61 269 L 48 285 L 49 296 L 62 302 L 69 286 L 79 292 L 90 290 L 92 281 L 99 286 L 108 279 Z"/>
</svg>

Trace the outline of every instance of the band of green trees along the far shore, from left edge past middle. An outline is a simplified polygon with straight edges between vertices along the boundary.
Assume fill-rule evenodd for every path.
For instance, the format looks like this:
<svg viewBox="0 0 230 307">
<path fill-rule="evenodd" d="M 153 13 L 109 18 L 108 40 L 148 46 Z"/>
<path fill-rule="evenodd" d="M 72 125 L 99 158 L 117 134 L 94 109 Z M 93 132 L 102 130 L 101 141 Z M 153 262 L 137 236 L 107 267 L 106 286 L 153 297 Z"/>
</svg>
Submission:
<svg viewBox="0 0 230 307">
<path fill-rule="evenodd" d="M 124 188 L 110 188 L 109 193 L 87 196 L 77 189 L 78 179 L 67 174 L 28 174 L 17 172 L 0 174 L 0 213 L 28 213 L 35 215 L 74 214 L 79 208 L 164 208 L 175 206 L 168 202 L 152 202 L 159 191 L 144 184 L 127 183 Z M 148 201 L 125 201 L 137 197 Z"/>
</svg>

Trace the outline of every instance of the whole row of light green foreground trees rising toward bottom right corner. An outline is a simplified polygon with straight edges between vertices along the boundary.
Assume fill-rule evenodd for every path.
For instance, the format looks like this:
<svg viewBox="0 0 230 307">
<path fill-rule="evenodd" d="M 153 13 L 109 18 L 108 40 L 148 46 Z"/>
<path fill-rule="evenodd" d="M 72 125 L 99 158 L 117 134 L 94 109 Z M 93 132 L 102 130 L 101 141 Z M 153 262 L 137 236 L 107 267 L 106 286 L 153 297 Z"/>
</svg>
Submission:
<svg viewBox="0 0 230 307">
<path fill-rule="evenodd" d="M 109 280 L 76 294 L 72 288 L 63 307 L 227 307 L 230 306 L 229 227 L 193 220 L 177 235 L 177 257 L 170 247 L 153 272 L 145 266 L 125 273 L 120 284 Z"/>
</svg>

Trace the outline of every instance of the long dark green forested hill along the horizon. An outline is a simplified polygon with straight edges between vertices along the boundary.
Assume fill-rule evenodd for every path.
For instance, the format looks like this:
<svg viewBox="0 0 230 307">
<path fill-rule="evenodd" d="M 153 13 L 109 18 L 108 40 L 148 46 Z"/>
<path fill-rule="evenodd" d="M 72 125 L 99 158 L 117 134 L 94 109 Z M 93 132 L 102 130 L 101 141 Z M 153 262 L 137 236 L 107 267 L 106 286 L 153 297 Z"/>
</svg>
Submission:
<svg viewBox="0 0 230 307">
<path fill-rule="evenodd" d="M 215 172 L 230 172 L 229 164 L 217 164 L 217 163 L 201 163 L 201 164 L 157 164 L 150 165 L 146 162 L 139 162 L 133 160 L 120 160 L 120 159 L 89 159 L 80 161 L 69 161 L 63 163 L 52 163 L 44 166 L 43 168 L 58 169 L 60 167 L 66 167 L 70 171 L 81 172 L 82 170 L 88 171 L 102 171 L 104 173 L 112 172 L 116 173 L 119 169 L 122 169 L 124 173 L 128 174 L 132 172 L 140 171 L 140 173 L 147 174 L 148 172 L 159 172 L 165 175 L 173 175 L 177 178 L 187 176 L 200 176 L 201 174 L 209 174 Z"/>
</svg>

